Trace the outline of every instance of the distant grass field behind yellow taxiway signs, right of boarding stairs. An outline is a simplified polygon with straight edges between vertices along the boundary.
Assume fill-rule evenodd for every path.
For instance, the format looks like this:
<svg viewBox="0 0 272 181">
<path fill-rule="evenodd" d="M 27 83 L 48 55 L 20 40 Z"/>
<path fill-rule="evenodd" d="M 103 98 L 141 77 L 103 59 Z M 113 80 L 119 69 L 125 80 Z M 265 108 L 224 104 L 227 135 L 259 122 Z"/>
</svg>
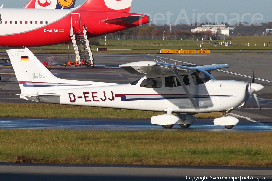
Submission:
<svg viewBox="0 0 272 181">
<path fill-rule="evenodd" d="M 118 49 L 200 49 L 208 48 L 212 50 L 216 49 L 272 49 L 272 36 L 260 37 L 260 36 L 245 36 L 245 37 L 227 37 L 226 40 L 218 40 L 219 43 L 228 41 L 232 43 L 232 46 L 218 46 L 214 47 L 213 43 L 216 40 L 107 40 L 108 48 Z M 271 42 L 270 46 L 264 46 L 264 43 Z M 99 40 L 99 43 L 104 45 L 105 40 Z M 143 46 L 142 46 L 143 43 Z M 156 43 L 156 46 L 155 46 Z M 203 46 L 202 46 L 203 43 Z M 255 46 L 256 43 L 256 46 Z M 123 44 L 123 46 L 122 46 Z M 171 44 L 171 47 L 170 47 Z M 201 47 L 200 47 L 201 44 Z M 240 44 L 240 46 L 238 45 Z M 248 46 L 248 44 L 250 46 Z M 257 46 L 259 44 L 259 46 Z M 99 46 L 102 47 L 102 46 Z"/>
</svg>

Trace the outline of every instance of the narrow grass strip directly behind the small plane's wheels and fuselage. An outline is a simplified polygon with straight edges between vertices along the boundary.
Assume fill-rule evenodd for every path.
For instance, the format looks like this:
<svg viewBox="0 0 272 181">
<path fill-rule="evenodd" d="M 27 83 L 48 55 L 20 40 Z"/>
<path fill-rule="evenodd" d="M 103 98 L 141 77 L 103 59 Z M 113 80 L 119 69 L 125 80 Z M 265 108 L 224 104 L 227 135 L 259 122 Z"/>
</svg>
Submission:
<svg viewBox="0 0 272 181">
<path fill-rule="evenodd" d="M 0 117 L 43 117 L 43 118 L 148 118 L 165 113 L 137 110 L 113 110 L 109 108 L 68 106 L 60 104 L 13 104 L 0 103 Z M 198 114 L 197 118 L 216 118 L 221 113 Z"/>
</svg>

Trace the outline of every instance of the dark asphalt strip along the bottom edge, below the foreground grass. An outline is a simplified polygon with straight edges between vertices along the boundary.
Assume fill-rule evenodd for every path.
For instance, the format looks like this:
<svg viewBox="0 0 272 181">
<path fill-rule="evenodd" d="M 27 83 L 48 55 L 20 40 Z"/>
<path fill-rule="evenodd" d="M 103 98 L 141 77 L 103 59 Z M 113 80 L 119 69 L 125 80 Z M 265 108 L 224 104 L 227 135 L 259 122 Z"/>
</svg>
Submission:
<svg viewBox="0 0 272 181">
<path fill-rule="evenodd" d="M 252 178 L 255 179 L 250 179 L 251 176 L 254 176 Z M 258 180 L 256 178 L 263 178 L 259 180 L 271 180 L 271 169 L 255 167 L 116 166 L 0 163 L 0 179 L 8 181 Z"/>
</svg>

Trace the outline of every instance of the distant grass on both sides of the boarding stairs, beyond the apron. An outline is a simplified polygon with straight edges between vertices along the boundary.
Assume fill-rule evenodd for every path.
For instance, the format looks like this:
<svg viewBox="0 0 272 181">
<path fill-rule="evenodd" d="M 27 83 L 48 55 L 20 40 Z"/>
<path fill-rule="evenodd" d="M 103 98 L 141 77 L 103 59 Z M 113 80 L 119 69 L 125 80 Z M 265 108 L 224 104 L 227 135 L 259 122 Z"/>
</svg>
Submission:
<svg viewBox="0 0 272 181">
<path fill-rule="evenodd" d="M 261 53 L 267 53 L 272 50 L 272 36 L 238 36 L 238 37 L 226 37 L 226 40 L 218 40 L 219 43 L 224 43 L 228 41 L 232 43 L 232 46 L 218 46 L 214 47 L 213 43 L 216 40 L 208 41 L 192 41 L 192 40 L 107 40 L 107 46 L 105 46 L 105 40 L 99 40 L 99 46 L 91 46 L 92 49 L 96 48 L 107 48 L 107 49 L 130 49 L 130 50 L 108 50 L 107 52 L 101 53 L 160 53 L 159 49 L 201 49 L 207 48 L 212 50 L 212 53 L 218 53 L 216 50 L 225 49 L 237 49 L 236 53 L 240 53 L 240 50 L 250 50 L 250 49 L 265 49 Z M 270 46 L 264 46 L 264 43 L 271 42 Z M 155 46 L 156 43 L 156 46 Z M 203 45 L 202 45 L 203 43 Z M 123 46 L 122 46 L 123 44 Z M 142 46 L 143 44 L 143 46 Z M 171 44 L 171 47 L 170 47 Z M 200 47 L 201 44 L 201 47 Z M 240 46 L 238 45 L 240 44 Z M 248 46 L 249 44 L 249 46 Z M 256 44 L 256 46 L 255 46 Z M 259 46 L 257 46 L 259 44 Z M 68 53 L 68 45 L 55 45 L 55 46 L 44 46 L 30 48 L 33 52 L 50 52 L 50 53 Z M 72 46 L 73 47 L 73 46 Z M 148 49 L 148 50 L 146 50 Z M 6 49 L 0 49 L 0 52 L 5 52 Z M 73 50 L 70 50 L 73 53 Z M 100 53 L 93 51 L 93 53 Z M 222 52 L 220 52 L 222 53 Z M 233 51 L 231 53 L 234 53 Z M 251 52 L 252 53 L 252 52 Z M 254 53 L 254 52 L 253 52 Z M 260 53 L 260 52 L 257 52 Z"/>
</svg>

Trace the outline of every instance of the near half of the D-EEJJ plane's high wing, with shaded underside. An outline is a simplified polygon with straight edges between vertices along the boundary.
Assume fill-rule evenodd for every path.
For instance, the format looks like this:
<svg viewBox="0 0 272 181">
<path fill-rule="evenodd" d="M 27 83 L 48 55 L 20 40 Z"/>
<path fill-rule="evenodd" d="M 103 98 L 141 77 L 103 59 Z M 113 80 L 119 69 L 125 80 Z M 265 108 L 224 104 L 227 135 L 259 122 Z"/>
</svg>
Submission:
<svg viewBox="0 0 272 181">
<path fill-rule="evenodd" d="M 154 62 L 154 61 L 141 61 L 141 62 L 131 62 L 119 65 L 125 71 L 131 74 L 139 75 L 155 75 L 155 74 L 167 74 L 177 69 L 182 72 L 195 72 L 196 68 L 174 65 L 168 63 Z"/>
</svg>

